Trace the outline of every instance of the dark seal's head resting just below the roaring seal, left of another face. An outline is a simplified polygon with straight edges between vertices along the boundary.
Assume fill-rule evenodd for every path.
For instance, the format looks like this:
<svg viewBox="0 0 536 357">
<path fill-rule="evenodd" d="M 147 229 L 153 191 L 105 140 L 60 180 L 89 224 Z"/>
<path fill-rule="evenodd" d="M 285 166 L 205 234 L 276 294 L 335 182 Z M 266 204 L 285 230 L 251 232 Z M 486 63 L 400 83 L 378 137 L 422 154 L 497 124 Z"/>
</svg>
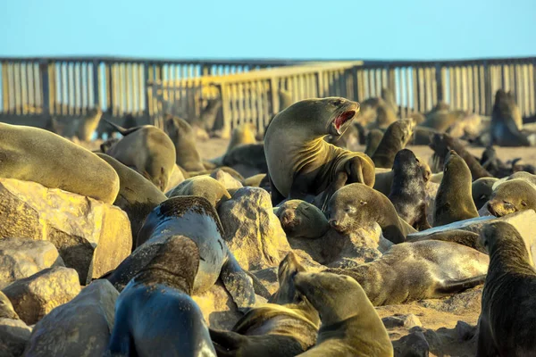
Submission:
<svg viewBox="0 0 536 357">
<path fill-rule="evenodd" d="M 322 211 L 302 200 L 285 201 L 274 211 L 287 237 L 318 238 L 330 229 Z"/>
</svg>

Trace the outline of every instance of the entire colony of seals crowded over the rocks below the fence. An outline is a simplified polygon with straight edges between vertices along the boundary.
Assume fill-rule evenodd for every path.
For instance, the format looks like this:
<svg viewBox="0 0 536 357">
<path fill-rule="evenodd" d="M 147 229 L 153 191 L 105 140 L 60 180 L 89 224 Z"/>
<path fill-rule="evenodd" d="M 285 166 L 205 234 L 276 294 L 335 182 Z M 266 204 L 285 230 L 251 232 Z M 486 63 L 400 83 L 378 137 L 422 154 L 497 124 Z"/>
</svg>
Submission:
<svg viewBox="0 0 536 357">
<path fill-rule="evenodd" d="M 100 295 L 85 298 L 101 311 L 90 319 L 82 310 L 31 311 L 38 322 L 28 322 L 35 326 L 24 343 L 48 338 L 46 326 L 71 326 L 78 318 L 87 320 L 67 332 L 84 334 L 75 342 L 49 344 L 54 355 L 407 355 L 400 345 L 427 346 L 412 350 L 416 355 L 440 354 L 447 351 L 437 346 L 440 339 L 430 339 L 428 321 L 421 329 L 403 322 L 393 331 L 391 318 L 380 316 L 407 314 L 404 304 L 410 302 L 424 314 L 442 303 L 442 316 L 456 309 L 457 300 L 475 305 L 473 296 L 482 291 L 482 311 L 473 321 L 480 313 L 477 355 L 536 353 L 530 313 L 536 272 L 532 242 L 525 237 L 533 220 L 516 218 L 536 214 L 536 176 L 528 172 L 531 163 L 501 162 L 489 145 L 530 144 L 514 96 L 498 92 L 486 121 L 441 103 L 400 118 L 407 111 L 389 88 L 363 105 L 342 97 L 296 101 L 292 89 L 279 95 L 281 111 L 264 136 L 255 132 L 264 122 L 240 121 L 234 128 L 220 123 L 218 111 L 228 110 L 228 103 L 206 98 L 199 118 L 183 120 L 174 112 L 165 116 L 163 129 L 139 125 L 132 115 L 123 124 L 128 129 L 108 125 L 120 135 L 95 152 L 75 142 L 88 145 L 99 131 L 98 110 L 81 122 L 75 142 L 0 123 L 0 238 L 22 242 L 43 233 L 58 254 L 49 262 L 48 251 L 5 258 L 8 250 L 0 249 L 0 262 L 6 262 L 0 286 L 4 277 L 30 270 L 78 271 L 72 262 L 79 257 L 93 270 L 89 285 L 102 285 Z M 200 130 L 231 137 L 225 154 L 203 157 Z M 475 133 L 482 135 L 471 137 Z M 467 150 L 468 143 L 486 137 L 482 158 Z M 417 138 L 434 152 L 430 166 L 411 150 Z M 365 141 L 367 154 L 358 151 Z M 37 183 L 46 194 L 13 193 L 4 185 L 7 179 Z M 48 189 L 66 193 L 53 199 Z M 74 205 L 77 200 L 84 204 Z M 18 210 L 47 225 L 26 216 L 18 220 Z M 495 217 L 478 218 L 477 210 Z M 106 220 L 112 211 L 126 224 Z M 102 269 L 120 250 L 121 236 L 130 238 L 123 244 L 128 252 Z M 18 260 L 24 269 L 4 271 Z M 33 268 L 30 261 L 47 265 Z M 13 284 L 25 284 L 31 274 Z M 66 280 L 33 278 L 43 286 Z M 86 287 L 80 294 L 91 291 Z M 27 310 L 33 309 L 13 290 L 0 292 L 0 332 L 4 320 L 27 324 Z M 59 290 L 69 289 L 54 288 L 54 294 L 64 293 Z M 460 299 L 454 296 L 461 293 Z M 445 297 L 448 302 L 427 301 Z M 48 311 L 70 304 L 58 305 L 62 300 L 55 296 L 41 300 L 50 303 Z M 389 307 L 375 308 L 383 305 Z M 473 336 L 474 329 L 461 335 Z M 82 337 L 91 343 L 84 345 Z M 456 344 L 467 342 L 456 338 Z M 0 349 L 3 341 L 0 334 Z"/>
</svg>

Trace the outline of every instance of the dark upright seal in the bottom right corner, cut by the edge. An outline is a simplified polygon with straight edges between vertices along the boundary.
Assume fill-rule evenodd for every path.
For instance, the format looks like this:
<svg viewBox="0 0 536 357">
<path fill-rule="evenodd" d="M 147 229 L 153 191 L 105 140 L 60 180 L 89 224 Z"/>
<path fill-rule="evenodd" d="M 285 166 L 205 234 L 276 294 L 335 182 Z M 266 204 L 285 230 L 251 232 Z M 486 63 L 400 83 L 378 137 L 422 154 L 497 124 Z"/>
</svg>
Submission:
<svg viewBox="0 0 536 357">
<path fill-rule="evenodd" d="M 490 268 L 482 290 L 476 356 L 536 355 L 536 270 L 523 238 L 507 222 L 482 229 Z"/>
</svg>

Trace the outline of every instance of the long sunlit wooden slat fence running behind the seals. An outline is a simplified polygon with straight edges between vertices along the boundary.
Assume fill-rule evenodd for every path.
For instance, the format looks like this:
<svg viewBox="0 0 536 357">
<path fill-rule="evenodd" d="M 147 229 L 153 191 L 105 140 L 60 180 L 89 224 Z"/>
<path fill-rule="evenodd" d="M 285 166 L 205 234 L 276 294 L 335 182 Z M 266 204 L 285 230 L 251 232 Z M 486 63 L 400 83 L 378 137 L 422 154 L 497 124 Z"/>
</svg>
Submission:
<svg viewBox="0 0 536 357">
<path fill-rule="evenodd" d="M 495 92 L 511 90 L 523 116 L 536 114 L 536 57 L 440 62 L 151 61 L 114 58 L 2 59 L 0 113 L 84 114 L 99 105 L 120 117 L 163 112 L 195 118 L 222 100 L 223 125 L 258 129 L 293 100 L 340 95 L 363 101 L 391 88 L 401 116 L 451 107 L 490 115 Z M 252 71 L 255 70 L 255 71 Z M 2 116 L 0 115 L 0 120 Z"/>
</svg>

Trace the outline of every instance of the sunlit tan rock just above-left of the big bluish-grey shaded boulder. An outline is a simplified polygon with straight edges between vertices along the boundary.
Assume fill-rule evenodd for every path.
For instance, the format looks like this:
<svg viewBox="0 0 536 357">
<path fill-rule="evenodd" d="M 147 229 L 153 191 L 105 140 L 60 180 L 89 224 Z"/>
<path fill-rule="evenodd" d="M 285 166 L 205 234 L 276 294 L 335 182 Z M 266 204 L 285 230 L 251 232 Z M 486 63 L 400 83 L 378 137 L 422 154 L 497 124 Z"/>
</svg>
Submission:
<svg viewBox="0 0 536 357">
<path fill-rule="evenodd" d="M 76 270 L 54 267 L 17 280 L 2 292 L 11 300 L 21 320 L 33 325 L 56 306 L 78 295 L 80 282 Z"/>
</svg>

